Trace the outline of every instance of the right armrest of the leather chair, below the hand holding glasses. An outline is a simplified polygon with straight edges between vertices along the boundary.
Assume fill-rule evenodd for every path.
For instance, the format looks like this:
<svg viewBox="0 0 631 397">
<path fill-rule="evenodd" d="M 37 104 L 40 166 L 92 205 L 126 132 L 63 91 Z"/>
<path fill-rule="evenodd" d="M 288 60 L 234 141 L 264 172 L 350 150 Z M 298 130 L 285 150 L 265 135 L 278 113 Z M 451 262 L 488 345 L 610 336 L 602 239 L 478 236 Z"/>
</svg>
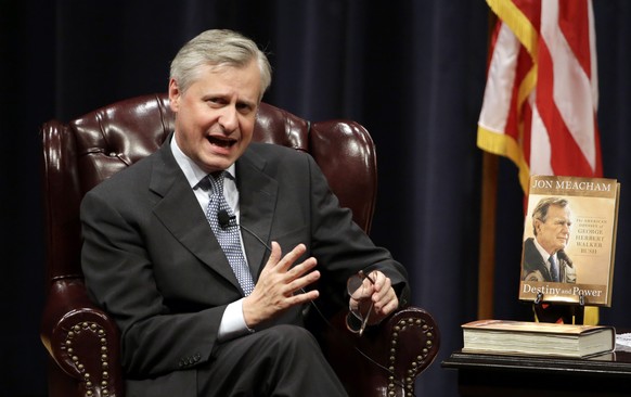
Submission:
<svg viewBox="0 0 631 397">
<path fill-rule="evenodd" d="M 415 377 L 432 364 L 440 347 L 432 315 L 417 307 L 399 309 L 362 336 L 345 330 L 344 317 L 333 319 L 336 330 L 324 333 L 324 348 L 347 392 L 352 396 L 413 395 Z"/>
</svg>

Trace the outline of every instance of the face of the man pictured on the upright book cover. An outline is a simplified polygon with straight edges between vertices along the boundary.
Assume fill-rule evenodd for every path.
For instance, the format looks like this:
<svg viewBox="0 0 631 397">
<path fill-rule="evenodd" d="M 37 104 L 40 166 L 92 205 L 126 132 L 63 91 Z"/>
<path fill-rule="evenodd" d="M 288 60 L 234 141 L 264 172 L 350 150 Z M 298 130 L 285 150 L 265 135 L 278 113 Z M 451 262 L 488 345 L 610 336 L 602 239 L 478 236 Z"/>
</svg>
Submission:
<svg viewBox="0 0 631 397">
<path fill-rule="evenodd" d="M 548 208 L 548 219 L 542 222 L 536 219 L 537 241 L 550 253 L 556 253 L 566 247 L 571 227 L 569 208 L 551 205 Z"/>
</svg>

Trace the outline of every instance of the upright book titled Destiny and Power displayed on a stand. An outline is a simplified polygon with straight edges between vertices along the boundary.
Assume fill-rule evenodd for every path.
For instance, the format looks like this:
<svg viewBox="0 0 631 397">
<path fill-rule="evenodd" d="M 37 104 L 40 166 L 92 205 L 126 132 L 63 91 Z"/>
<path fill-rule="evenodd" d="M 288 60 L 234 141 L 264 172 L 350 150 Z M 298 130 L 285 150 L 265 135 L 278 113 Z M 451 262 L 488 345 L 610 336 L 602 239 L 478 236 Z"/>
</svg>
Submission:
<svg viewBox="0 0 631 397">
<path fill-rule="evenodd" d="M 611 305 L 619 195 L 615 179 L 530 178 L 520 300 Z"/>
</svg>

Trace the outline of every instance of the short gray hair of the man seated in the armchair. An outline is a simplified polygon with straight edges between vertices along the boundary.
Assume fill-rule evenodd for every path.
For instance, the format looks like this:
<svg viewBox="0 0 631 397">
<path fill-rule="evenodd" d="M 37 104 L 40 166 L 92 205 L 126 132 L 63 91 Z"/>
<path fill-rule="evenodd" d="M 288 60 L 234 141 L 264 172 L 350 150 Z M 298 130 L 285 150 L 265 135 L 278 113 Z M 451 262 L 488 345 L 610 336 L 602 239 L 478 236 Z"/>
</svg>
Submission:
<svg viewBox="0 0 631 397">
<path fill-rule="evenodd" d="M 252 61 L 260 71 L 260 101 L 272 81 L 272 68 L 253 40 L 233 30 L 206 30 L 186 42 L 171 62 L 170 78 L 183 92 L 198 78 L 201 66 L 244 67 Z"/>
</svg>

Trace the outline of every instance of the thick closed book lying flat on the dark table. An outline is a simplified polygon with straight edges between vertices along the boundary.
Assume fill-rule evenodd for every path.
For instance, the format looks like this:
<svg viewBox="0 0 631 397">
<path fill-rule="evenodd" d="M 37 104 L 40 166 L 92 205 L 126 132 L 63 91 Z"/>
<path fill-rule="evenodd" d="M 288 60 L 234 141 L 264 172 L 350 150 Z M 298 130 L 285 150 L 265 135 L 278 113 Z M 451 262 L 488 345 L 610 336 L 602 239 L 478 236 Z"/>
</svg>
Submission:
<svg viewBox="0 0 631 397">
<path fill-rule="evenodd" d="M 616 330 L 605 325 L 478 320 L 462 329 L 463 353 L 585 358 L 616 347 Z"/>
</svg>

